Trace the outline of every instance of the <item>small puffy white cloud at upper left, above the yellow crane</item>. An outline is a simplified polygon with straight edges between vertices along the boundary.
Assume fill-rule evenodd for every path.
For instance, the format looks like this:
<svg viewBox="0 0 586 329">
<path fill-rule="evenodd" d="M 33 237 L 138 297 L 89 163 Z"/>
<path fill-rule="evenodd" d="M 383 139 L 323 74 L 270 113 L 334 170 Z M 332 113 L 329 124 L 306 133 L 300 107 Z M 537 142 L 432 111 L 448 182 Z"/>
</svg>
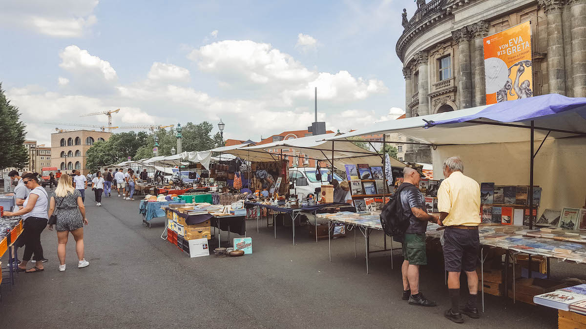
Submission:
<svg viewBox="0 0 586 329">
<path fill-rule="evenodd" d="M 80 49 L 75 45 L 67 46 L 59 53 L 61 63 L 59 67 L 71 73 L 86 76 L 100 76 L 104 80 L 114 81 L 117 79 L 116 71 L 110 65 L 110 62 L 92 56 L 85 49 Z"/>
</svg>

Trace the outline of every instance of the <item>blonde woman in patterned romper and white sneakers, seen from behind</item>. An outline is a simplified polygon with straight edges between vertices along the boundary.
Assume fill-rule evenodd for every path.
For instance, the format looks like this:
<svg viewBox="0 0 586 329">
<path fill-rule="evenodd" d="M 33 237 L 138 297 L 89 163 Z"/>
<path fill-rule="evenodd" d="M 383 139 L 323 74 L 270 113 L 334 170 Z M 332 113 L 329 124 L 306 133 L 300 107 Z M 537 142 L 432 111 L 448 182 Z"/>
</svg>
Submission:
<svg viewBox="0 0 586 329">
<path fill-rule="evenodd" d="M 57 207 L 57 223 L 55 229 L 57 230 L 57 256 L 59 257 L 59 271 L 65 270 L 65 246 L 67 245 L 67 238 L 69 232 L 73 235 L 76 241 L 76 252 L 79 262 L 78 268 L 85 268 L 90 265 L 84 258 L 83 247 L 83 225 L 88 224 L 86 218 L 86 207 L 83 205 L 81 193 L 73 187 L 71 178 L 67 174 L 63 174 L 57 185 L 57 189 L 51 195 L 49 205 L 49 217 L 54 213 Z M 53 225 L 49 225 L 49 229 L 53 231 Z"/>
</svg>

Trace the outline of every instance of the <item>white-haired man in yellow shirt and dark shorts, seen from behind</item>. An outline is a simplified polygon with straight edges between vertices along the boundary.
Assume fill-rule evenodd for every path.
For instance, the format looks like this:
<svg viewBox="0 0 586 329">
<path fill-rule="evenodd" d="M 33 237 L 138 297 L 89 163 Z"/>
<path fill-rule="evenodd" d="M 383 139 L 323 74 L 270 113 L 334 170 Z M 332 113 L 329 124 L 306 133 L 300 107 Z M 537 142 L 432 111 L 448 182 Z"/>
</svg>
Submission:
<svg viewBox="0 0 586 329">
<path fill-rule="evenodd" d="M 478 275 L 476 259 L 480 243 L 478 225 L 481 223 L 480 185 L 464 176 L 464 162 L 459 157 L 448 157 L 444 162 L 444 181 L 438 190 L 438 224 L 447 227 L 444 234 L 444 265 L 448 271 L 448 290 L 452 308 L 444 316 L 455 323 L 464 323 L 462 314 L 479 318 L 476 307 Z M 468 303 L 460 310 L 460 273 L 468 277 Z"/>
</svg>

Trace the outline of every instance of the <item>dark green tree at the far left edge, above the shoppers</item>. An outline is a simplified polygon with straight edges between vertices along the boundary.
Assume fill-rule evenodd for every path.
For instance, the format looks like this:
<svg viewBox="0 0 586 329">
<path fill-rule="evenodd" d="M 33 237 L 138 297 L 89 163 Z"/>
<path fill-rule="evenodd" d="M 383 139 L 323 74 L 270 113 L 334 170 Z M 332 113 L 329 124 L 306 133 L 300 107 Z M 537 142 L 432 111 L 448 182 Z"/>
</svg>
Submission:
<svg viewBox="0 0 586 329">
<path fill-rule="evenodd" d="M 28 165 L 29 156 L 24 145 L 26 125 L 21 121 L 18 107 L 6 99 L 0 83 L 0 168 L 23 168 Z"/>
</svg>

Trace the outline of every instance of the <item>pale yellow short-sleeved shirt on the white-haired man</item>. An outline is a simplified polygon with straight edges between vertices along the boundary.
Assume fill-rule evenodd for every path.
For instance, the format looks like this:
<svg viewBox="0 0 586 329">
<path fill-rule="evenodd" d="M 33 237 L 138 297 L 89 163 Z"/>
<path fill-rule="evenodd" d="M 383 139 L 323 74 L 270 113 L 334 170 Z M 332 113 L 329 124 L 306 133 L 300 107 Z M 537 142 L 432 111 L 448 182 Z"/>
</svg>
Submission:
<svg viewBox="0 0 586 329">
<path fill-rule="evenodd" d="M 448 213 L 445 226 L 477 226 L 480 219 L 480 185 L 461 172 L 453 172 L 438 190 L 438 210 Z"/>
</svg>

